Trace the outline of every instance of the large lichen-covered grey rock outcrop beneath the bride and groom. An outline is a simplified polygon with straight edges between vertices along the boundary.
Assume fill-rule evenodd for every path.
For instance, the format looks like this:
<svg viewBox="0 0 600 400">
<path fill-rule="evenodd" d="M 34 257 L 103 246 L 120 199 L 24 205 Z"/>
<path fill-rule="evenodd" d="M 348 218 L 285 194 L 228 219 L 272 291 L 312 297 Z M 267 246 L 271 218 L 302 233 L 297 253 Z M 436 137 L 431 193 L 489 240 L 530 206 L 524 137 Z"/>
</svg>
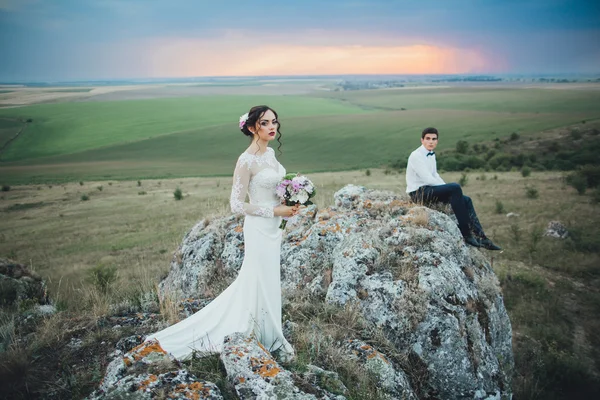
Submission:
<svg viewBox="0 0 600 400">
<path fill-rule="evenodd" d="M 218 294 L 215 287 L 235 278 L 242 259 L 242 220 L 203 220 L 184 238 L 161 295 L 205 304 Z M 399 357 L 390 359 L 357 337 L 331 345 L 377 376 L 387 397 L 512 396 L 512 332 L 498 280 L 485 255 L 464 244 L 451 216 L 391 192 L 346 186 L 335 194 L 333 207 L 311 206 L 290 219 L 281 274 L 284 296 L 305 291 L 317 302 L 352 305 L 385 336 Z M 248 347 L 248 338 L 228 340 L 221 357 L 241 398 L 344 398 L 344 383 L 333 391 L 319 386 L 318 376 L 331 381 L 327 374 L 335 374 L 322 365 L 311 366 L 312 375 L 294 373 L 319 388 L 302 391 L 276 361 L 253 364 L 252 357 L 271 359 Z M 247 350 L 236 353 L 232 346 Z M 242 366 L 253 372 L 244 375 L 236 369 Z M 260 373 L 275 370 L 277 379 Z M 281 397 L 284 392 L 292 397 Z"/>
</svg>

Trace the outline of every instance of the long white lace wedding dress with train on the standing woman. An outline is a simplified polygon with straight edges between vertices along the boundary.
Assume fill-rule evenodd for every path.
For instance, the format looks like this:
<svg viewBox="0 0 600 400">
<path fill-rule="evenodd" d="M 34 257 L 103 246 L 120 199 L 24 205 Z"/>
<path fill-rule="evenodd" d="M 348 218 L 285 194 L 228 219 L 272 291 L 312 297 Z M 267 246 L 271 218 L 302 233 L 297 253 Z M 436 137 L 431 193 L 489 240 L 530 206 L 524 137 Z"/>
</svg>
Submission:
<svg viewBox="0 0 600 400">
<path fill-rule="evenodd" d="M 271 148 L 262 155 L 242 153 L 233 175 L 231 210 L 245 215 L 245 255 L 236 280 L 194 315 L 149 335 L 175 358 L 193 351 L 220 352 L 225 336 L 234 332 L 254 335 L 267 349 L 293 356 L 281 330 L 280 249 L 281 217 L 273 216 L 279 204 L 275 187 L 285 168 Z M 250 202 L 245 202 L 246 194 Z"/>
</svg>

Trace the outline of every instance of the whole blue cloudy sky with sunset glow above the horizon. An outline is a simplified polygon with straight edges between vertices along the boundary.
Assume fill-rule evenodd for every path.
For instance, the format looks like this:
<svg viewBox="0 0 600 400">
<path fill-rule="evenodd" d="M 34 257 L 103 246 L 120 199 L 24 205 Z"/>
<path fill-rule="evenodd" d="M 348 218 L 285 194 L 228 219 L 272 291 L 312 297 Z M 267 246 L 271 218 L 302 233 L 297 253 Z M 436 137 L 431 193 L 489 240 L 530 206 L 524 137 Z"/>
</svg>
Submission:
<svg viewBox="0 0 600 400">
<path fill-rule="evenodd" d="M 599 72 L 597 0 L 0 0 L 0 82 Z"/>
</svg>

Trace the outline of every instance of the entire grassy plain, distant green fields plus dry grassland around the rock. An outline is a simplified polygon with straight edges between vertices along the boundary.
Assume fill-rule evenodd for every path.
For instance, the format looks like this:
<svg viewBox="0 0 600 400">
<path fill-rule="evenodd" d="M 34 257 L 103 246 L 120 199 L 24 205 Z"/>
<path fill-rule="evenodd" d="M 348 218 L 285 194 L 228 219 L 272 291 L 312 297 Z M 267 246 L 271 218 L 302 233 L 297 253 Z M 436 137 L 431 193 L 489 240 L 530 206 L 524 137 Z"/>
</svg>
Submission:
<svg viewBox="0 0 600 400">
<path fill-rule="evenodd" d="M 288 171 L 311 173 L 319 207 L 348 183 L 403 193 L 403 175 L 375 167 L 407 156 L 425 126 L 440 129 L 443 150 L 458 140 L 493 143 L 513 132 L 532 146 L 538 141 L 530 139 L 556 135 L 557 127 L 600 120 L 600 91 L 539 88 L 206 95 L 0 109 L 0 145 L 33 120 L 0 154 L 0 255 L 47 279 L 64 311 L 39 334 L 48 354 L 64 345 L 57 339 L 64 333 L 45 334 L 46 327 L 63 332 L 106 314 L 110 302 L 141 286 L 152 288 L 198 220 L 229 214 L 233 165 L 247 146 L 237 118 L 257 103 L 280 113 L 279 159 Z M 515 398 L 590 398 L 600 390 L 600 196 L 578 195 L 559 172 L 444 178 L 463 181 L 484 228 L 504 248 L 487 256 L 513 324 Z M 174 199 L 176 188 L 182 201 Z M 570 237 L 543 236 L 551 220 L 565 224 Z M 89 281 L 99 266 L 118 272 L 112 297 L 98 297 Z M 95 319 L 88 322 L 89 341 L 110 334 Z M 19 351 L 14 357 L 23 368 L 35 364 L 29 352 L 38 350 Z M 91 377 L 101 376 L 98 363 L 82 374 L 80 395 L 65 393 L 87 395 Z"/>
</svg>

